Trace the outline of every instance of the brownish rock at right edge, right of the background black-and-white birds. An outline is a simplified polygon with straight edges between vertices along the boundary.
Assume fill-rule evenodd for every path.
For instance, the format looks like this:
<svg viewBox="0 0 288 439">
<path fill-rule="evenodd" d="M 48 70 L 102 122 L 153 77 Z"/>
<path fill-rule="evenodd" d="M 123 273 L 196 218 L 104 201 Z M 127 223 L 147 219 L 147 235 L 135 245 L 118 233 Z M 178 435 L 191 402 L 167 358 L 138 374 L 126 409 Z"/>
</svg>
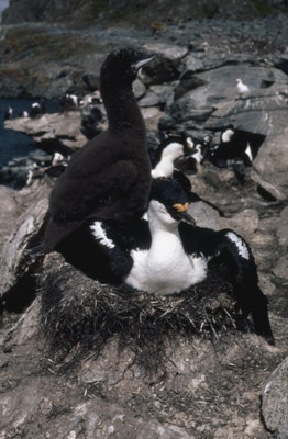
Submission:
<svg viewBox="0 0 288 439">
<path fill-rule="evenodd" d="M 258 183 L 264 187 L 264 189 L 270 192 L 276 200 L 287 200 L 288 198 L 288 177 L 287 177 L 287 167 L 288 167 L 288 128 L 286 126 L 281 126 L 284 124 L 285 112 L 279 111 L 279 121 L 276 121 L 277 111 L 275 111 L 274 119 L 269 117 L 268 113 L 266 115 L 270 119 L 270 126 L 274 134 L 268 135 L 264 143 L 261 146 L 257 157 L 255 158 L 253 165 L 255 170 L 258 172 L 261 178 L 274 188 L 274 190 L 269 189 L 267 185 L 262 184 L 261 181 Z M 286 116 L 288 117 L 288 110 L 286 109 Z M 265 113 L 263 113 L 263 117 L 265 117 Z M 278 125 L 279 124 L 279 125 Z M 255 175 L 254 175 L 255 178 Z"/>
</svg>

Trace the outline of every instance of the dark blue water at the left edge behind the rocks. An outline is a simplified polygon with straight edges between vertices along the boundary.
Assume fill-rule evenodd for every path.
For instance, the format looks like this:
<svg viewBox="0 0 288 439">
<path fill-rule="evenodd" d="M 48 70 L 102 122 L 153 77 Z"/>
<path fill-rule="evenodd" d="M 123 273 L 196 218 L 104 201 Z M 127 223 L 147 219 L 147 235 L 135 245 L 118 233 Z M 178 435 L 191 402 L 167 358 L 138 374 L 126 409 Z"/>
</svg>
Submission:
<svg viewBox="0 0 288 439">
<path fill-rule="evenodd" d="M 0 99 L 0 168 L 5 166 L 12 158 L 26 157 L 29 153 L 35 150 L 33 138 L 3 126 L 4 113 L 8 106 L 13 109 L 13 117 L 22 112 L 30 112 L 31 104 L 35 99 Z M 59 101 L 45 101 L 47 113 L 55 113 L 59 110 Z"/>
</svg>

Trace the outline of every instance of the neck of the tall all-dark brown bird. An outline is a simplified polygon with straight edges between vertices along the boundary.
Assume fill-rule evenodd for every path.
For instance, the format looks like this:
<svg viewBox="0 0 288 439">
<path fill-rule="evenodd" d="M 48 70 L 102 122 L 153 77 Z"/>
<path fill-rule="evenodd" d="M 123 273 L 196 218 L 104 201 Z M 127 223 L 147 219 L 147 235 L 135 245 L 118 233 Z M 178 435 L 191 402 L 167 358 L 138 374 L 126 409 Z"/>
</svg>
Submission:
<svg viewBox="0 0 288 439">
<path fill-rule="evenodd" d="M 145 125 L 134 97 L 132 85 L 101 83 L 101 95 L 109 128 L 119 132 L 126 128 L 136 128 L 145 133 Z"/>
</svg>

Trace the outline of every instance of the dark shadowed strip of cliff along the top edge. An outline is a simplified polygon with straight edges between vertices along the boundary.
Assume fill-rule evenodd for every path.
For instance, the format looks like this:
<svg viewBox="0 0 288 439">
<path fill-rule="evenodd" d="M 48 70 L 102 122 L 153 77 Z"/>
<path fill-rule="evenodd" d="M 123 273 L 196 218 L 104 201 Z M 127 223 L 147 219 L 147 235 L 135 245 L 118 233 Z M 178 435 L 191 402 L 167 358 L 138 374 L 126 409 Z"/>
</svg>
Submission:
<svg viewBox="0 0 288 439">
<path fill-rule="evenodd" d="M 288 11 L 285 0 L 10 0 L 4 24 L 24 22 L 118 21 L 143 26 L 168 18 L 250 19 Z M 141 18 L 141 19 L 140 19 Z"/>
</svg>

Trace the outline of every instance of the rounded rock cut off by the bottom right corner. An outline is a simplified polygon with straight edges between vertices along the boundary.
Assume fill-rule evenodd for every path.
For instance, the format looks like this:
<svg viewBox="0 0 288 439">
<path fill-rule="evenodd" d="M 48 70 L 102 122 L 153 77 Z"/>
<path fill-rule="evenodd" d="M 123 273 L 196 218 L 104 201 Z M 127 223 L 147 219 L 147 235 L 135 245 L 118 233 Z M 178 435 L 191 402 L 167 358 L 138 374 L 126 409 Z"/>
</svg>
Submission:
<svg viewBox="0 0 288 439">
<path fill-rule="evenodd" d="M 262 392 L 262 415 L 268 430 L 277 439 L 287 439 L 288 432 L 288 357 L 266 381 Z"/>
</svg>

